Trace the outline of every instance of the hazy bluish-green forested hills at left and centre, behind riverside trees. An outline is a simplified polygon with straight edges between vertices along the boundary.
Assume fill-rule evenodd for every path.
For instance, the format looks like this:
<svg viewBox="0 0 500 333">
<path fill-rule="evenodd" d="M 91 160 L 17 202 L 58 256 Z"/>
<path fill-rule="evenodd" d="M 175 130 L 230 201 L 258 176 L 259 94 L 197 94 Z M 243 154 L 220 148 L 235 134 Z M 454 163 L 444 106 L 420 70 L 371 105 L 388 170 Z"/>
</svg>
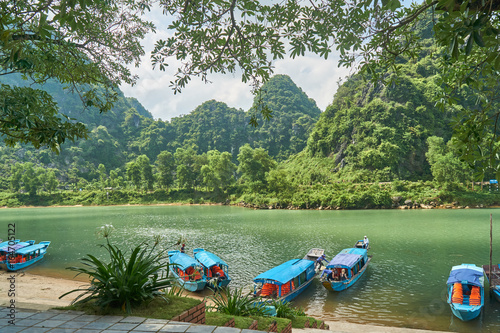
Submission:
<svg viewBox="0 0 500 333">
<path fill-rule="evenodd" d="M 25 85 L 19 76 L 3 76 L 0 82 Z M 47 82 L 43 89 L 58 102 L 61 112 L 83 122 L 90 130 L 88 140 L 67 142 L 59 155 L 48 149 L 35 150 L 31 146 L 0 150 L 0 165 L 6 178 L 10 165 L 32 162 L 36 166 L 54 168 L 62 182 L 83 178 L 91 181 L 98 177 L 100 164 L 125 178 L 126 163 L 146 155 L 151 164 L 162 151 L 175 153 L 178 148 L 190 147 L 197 154 L 209 150 L 230 152 L 233 161 L 239 148 L 250 144 L 264 148 L 277 159 L 286 159 L 300 152 L 320 115 L 316 103 L 309 99 L 288 76 L 277 75 L 263 87 L 265 92 L 259 105 L 273 110 L 270 120 L 259 120 L 259 127 L 249 125 L 250 112 L 228 107 L 215 100 L 207 101 L 191 113 L 173 118 L 170 122 L 154 120 L 151 114 L 134 98 L 119 92 L 113 109 L 104 114 L 83 109 L 75 94 L 62 89 L 55 81 Z M 2 144 L 3 146 L 3 144 Z M 7 188 L 3 179 L 0 187 Z"/>
</svg>

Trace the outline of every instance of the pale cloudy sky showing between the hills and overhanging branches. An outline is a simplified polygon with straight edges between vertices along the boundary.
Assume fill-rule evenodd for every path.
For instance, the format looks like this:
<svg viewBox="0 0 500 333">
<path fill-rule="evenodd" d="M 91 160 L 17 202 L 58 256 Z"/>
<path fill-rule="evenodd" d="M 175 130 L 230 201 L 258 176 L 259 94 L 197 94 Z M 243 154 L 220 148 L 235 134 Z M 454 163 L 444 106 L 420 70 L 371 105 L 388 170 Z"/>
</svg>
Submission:
<svg viewBox="0 0 500 333">
<path fill-rule="evenodd" d="M 175 59 L 169 63 L 166 71 L 154 69 L 150 61 L 150 53 L 155 41 L 167 38 L 166 17 L 161 10 L 153 10 L 148 19 L 157 27 L 155 34 L 151 33 L 143 40 L 145 56 L 139 67 L 131 67 L 132 74 L 138 75 L 134 86 L 123 84 L 121 90 L 127 97 L 135 97 L 154 119 L 170 120 L 173 117 L 189 114 L 203 102 L 215 99 L 226 103 L 229 107 L 247 111 L 253 103 L 254 96 L 251 86 L 241 81 L 237 74 L 210 74 L 204 83 L 200 78 L 193 78 L 179 94 L 169 87 L 174 80 L 178 63 Z M 274 74 L 285 74 L 301 88 L 309 98 L 316 101 L 317 106 L 324 111 L 332 102 L 339 79 L 349 75 L 349 69 L 338 67 L 338 57 L 333 55 L 325 60 L 316 55 L 306 55 L 295 59 L 285 58 L 274 63 Z"/>
</svg>

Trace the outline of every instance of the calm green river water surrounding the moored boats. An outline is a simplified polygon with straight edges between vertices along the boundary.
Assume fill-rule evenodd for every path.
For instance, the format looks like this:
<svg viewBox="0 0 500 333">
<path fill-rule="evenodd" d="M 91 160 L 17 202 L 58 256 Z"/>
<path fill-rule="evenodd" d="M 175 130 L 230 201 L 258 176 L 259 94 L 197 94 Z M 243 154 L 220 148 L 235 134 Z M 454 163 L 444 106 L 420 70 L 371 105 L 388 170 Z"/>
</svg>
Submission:
<svg viewBox="0 0 500 333">
<path fill-rule="evenodd" d="M 259 273 L 314 247 L 331 259 L 368 235 L 373 259 L 366 274 L 341 293 L 319 281 L 294 303 L 323 320 L 444 330 L 500 332 L 500 303 L 486 297 L 479 319 L 463 323 L 446 303 L 453 265 L 489 262 L 489 216 L 493 213 L 493 262 L 500 262 L 500 209 L 470 210 L 251 210 L 227 206 L 124 206 L 22 208 L 0 211 L 0 238 L 8 224 L 16 238 L 51 241 L 35 274 L 72 278 L 65 267 L 87 253 L 105 258 L 104 224 L 115 227 L 115 244 L 133 246 L 163 236 L 162 246 L 183 236 L 187 253 L 203 247 L 230 266 L 232 286 L 246 287 Z M 497 221 L 495 223 L 495 220 Z M 496 226 L 498 225 L 498 227 Z M 495 245 L 498 247 L 495 248 Z M 176 248 L 177 249 L 177 248 Z"/>
</svg>

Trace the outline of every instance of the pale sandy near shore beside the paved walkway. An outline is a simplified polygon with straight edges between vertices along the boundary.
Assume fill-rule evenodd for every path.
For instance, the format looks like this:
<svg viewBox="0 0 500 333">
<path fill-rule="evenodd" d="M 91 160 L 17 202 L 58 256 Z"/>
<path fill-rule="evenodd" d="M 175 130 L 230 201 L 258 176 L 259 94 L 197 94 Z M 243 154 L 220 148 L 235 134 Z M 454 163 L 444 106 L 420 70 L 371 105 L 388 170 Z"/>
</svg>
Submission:
<svg viewBox="0 0 500 333">
<path fill-rule="evenodd" d="M 13 277 L 13 278 L 12 278 Z M 60 295 L 78 289 L 85 288 L 88 283 L 77 280 L 69 280 L 55 277 L 47 277 L 30 273 L 12 273 L 0 271 L 0 306 L 7 307 L 15 301 L 16 308 L 36 311 L 46 311 L 54 307 L 70 305 L 75 296 L 69 295 L 59 299 Z M 12 291 L 11 291 L 12 290 Z M 12 297 L 10 293 L 14 293 Z M 12 295 L 12 294 L 11 294 Z M 188 297 L 201 298 L 200 296 L 188 295 Z M 436 332 L 419 329 L 400 327 L 376 326 L 367 324 L 356 324 L 343 321 L 329 321 L 327 324 L 333 332 L 387 332 L 387 333 L 425 333 Z M 294 332 L 312 333 L 317 330 L 294 329 Z"/>
</svg>

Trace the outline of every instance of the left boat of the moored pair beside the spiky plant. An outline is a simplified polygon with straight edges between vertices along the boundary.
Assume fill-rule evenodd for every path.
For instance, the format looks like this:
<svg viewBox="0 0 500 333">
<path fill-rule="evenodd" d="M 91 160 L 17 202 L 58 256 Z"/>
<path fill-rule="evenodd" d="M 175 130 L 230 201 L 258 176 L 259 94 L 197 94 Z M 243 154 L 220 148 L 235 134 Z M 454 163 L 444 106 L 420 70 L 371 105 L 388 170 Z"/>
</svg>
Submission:
<svg viewBox="0 0 500 333">
<path fill-rule="evenodd" d="M 203 273 L 201 264 L 181 251 L 168 251 L 170 271 L 176 278 L 177 284 L 188 291 L 203 290 L 207 278 Z"/>
</svg>

